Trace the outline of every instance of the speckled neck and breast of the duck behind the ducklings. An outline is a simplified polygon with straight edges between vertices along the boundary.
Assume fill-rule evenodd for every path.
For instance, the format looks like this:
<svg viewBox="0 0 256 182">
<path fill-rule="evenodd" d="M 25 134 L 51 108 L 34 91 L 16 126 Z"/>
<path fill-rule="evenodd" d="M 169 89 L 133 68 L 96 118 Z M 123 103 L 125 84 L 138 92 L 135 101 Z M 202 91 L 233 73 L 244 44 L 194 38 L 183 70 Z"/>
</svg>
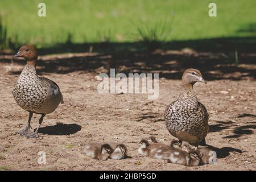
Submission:
<svg viewBox="0 0 256 182">
<path fill-rule="evenodd" d="M 168 131 L 175 137 L 185 132 L 201 140 L 209 130 L 207 110 L 192 90 L 181 90 L 179 99 L 167 106 L 165 120 Z"/>
</svg>

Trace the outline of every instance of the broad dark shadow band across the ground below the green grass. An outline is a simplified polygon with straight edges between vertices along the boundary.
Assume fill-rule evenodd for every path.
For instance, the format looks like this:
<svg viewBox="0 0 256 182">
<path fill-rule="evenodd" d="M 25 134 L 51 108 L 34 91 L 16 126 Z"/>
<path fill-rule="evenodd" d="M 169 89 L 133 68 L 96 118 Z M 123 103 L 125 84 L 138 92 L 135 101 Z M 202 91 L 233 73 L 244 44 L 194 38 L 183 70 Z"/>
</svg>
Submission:
<svg viewBox="0 0 256 182">
<path fill-rule="evenodd" d="M 160 49 L 149 51 L 152 43 L 92 43 L 64 44 L 39 49 L 39 55 L 50 53 L 83 52 L 84 55 L 69 53 L 64 56 L 43 56 L 38 61 L 38 73 L 159 73 L 159 77 L 180 79 L 187 68 L 199 69 L 206 80 L 241 80 L 256 77 L 256 38 L 219 38 L 187 40 L 164 43 Z M 144 48 L 144 49 L 143 49 Z M 88 50 L 98 53 L 88 53 Z M 237 57 L 236 55 L 237 50 Z M 87 52 L 87 53 L 86 53 Z M 25 64 L 25 61 L 13 60 Z M 0 62 L 11 62 L 0 59 Z M 11 72 L 19 75 L 20 71 Z"/>
</svg>

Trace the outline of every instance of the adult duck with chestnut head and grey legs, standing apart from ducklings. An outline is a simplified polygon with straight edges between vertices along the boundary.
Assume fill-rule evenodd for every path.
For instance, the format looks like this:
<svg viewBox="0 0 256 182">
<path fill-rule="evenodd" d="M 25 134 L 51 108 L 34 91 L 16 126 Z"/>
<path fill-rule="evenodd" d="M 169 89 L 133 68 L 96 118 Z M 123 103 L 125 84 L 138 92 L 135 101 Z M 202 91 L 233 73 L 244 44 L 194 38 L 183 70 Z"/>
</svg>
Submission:
<svg viewBox="0 0 256 182">
<path fill-rule="evenodd" d="M 55 111 L 60 103 L 64 103 L 63 96 L 54 81 L 36 74 L 38 53 L 34 46 L 22 46 L 14 57 L 23 57 L 27 60 L 13 88 L 14 100 L 22 109 L 29 112 L 27 126 L 20 130 L 19 134 L 26 135 L 27 138 L 38 138 L 38 130 L 44 116 Z M 30 122 L 34 113 L 41 114 L 41 117 L 37 129 L 31 133 Z"/>
</svg>

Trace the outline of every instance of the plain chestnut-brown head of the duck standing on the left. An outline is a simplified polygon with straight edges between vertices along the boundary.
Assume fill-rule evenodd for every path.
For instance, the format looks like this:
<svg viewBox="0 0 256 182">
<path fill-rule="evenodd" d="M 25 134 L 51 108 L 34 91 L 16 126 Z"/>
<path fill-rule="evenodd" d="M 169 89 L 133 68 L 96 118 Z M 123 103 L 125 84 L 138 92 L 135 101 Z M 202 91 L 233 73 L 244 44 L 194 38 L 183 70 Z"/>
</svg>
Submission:
<svg viewBox="0 0 256 182">
<path fill-rule="evenodd" d="M 34 46 L 27 45 L 20 47 L 19 51 L 13 57 L 23 57 L 28 61 L 36 61 L 38 60 L 38 52 Z"/>
</svg>

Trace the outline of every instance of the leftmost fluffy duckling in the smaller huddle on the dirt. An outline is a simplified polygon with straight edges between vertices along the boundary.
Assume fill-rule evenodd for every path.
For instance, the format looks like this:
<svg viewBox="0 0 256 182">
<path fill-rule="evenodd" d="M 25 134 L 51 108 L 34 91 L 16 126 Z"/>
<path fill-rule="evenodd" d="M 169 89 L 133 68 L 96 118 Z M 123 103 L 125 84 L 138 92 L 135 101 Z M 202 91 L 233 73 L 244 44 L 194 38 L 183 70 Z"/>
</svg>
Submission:
<svg viewBox="0 0 256 182">
<path fill-rule="evenodd" d="M 83 153 L 92 159 L 108 160 L 111 151 L 113 151 L 112 147 L 107 143 L 102 146 L 98 146 L 98 144 L 86 144 Z"/>
</svg>

